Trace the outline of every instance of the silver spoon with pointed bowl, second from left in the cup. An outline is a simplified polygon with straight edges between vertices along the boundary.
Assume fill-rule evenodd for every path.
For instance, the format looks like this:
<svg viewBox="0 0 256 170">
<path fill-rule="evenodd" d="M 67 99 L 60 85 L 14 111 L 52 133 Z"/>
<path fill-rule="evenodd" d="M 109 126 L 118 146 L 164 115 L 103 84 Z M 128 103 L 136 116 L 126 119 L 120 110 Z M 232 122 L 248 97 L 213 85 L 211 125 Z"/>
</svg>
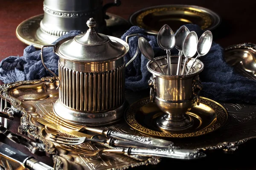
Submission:
<svg viewBox="0 0 256 170">
<path fill-rule="evenodd" d="M 171 68 L 171 49 L 175 45 L 175 35 L 172 29 L 165 24 L 157 34 L 157 43 L 160 48 L 166 50 L 167 54 L 167 74 L 172 75 Z"/>
</svg>

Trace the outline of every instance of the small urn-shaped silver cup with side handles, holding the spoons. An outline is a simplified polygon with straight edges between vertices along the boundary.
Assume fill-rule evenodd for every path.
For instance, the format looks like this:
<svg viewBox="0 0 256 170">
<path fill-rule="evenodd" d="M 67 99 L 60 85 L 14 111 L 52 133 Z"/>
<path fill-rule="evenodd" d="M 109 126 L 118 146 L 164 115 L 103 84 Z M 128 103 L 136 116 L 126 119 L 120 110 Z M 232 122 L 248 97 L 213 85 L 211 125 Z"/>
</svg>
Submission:
<svg viewBox="0 0 256 170">
<path fill-rule="evenodd" d="M 163 64 L 165 58 L 158 57 L 156 60 Z M 177 57 L 172 56 L 172 60 L 172 69 L 176 71 Z M 157 72 L 151 63 L 151 61 L 147 63 L 148 71 L 152 73 L 151 80 L 148 82 L 153 91 L 151 99 L 157 103 L 160 110 L 166 113 L 157 120 L 158 127 L 171 131 L 190 128 L 193 122 L 186 112 L 193 107 L 195 102 L 199 105 L 198 92 L 201 90 L 201 82 L 198 74 L 203 71 L 204 64 L 197 61 L 198 67 L 192 74 L 171 76 Z"/>
</svg>

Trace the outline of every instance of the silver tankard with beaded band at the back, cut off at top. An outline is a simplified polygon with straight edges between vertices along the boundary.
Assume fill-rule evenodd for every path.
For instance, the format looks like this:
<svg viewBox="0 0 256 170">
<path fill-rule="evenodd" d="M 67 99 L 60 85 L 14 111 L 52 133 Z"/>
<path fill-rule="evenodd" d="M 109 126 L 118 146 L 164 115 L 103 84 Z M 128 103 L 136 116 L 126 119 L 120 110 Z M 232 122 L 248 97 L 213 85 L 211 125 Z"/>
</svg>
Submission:
<svg viewBox="0 0 256 170">
<path fill-rule="evenodd" d="M 105 13 L 111 6 L 119 6 L 119 0 L 103 6 L 102 0 L 44 0 L 44 18 L 36 31 L 36 37 L 50 44 L 71 30 L 86 32 L 86 21 L 97 21 L 96 31 L 106 31 Z"/>
</svg>

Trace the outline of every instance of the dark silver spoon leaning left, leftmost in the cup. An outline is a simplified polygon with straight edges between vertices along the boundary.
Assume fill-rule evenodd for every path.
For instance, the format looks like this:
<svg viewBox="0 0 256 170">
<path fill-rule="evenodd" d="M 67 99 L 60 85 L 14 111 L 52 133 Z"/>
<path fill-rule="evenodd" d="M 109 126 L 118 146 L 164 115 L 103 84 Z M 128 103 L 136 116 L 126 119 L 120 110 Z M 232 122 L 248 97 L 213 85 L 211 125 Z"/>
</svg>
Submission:
<svg viewBox="0 0 256 170">
<path fill-rule="evenodd" d="M 138 44 L 139 44 L 140 52 L 143 54 L 143 56 L 145 56 L 147 59 L 155 62 L 157 64 L 157 67 L 159 67 L 161 72 L 164 74 L 162 68 L 160 67 L 158 62 L 154 59 L 154 50 L 151 47 L 151 45 L 149 44 L 148 40 L 146 40 L 143 37 L 140 37 L 138 40 Z"/>
</svg>

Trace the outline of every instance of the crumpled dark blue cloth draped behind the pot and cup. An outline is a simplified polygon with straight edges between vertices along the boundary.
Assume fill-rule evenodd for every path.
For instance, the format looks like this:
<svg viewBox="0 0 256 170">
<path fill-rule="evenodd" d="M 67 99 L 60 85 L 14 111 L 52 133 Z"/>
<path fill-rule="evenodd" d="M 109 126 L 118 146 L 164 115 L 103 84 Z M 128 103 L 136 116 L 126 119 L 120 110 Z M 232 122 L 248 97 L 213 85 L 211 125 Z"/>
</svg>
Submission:
<svg viewBox="0 0 256 170">
<path fill-rule="evenodd" d="M 189 31 L 195 31 L 198 38 L 204 32 L 197 25 L 187 24 Z M 68 34 L 58 38 L 53 44 L 66 37 L 80 34 L 79 31 L 70 31 Z M 148 35 L 142 28 L 132 26 L 126 31 L 121 39 L 129 34 L 140 34 L 151 44 L 155 57 L 166 55 L 157 44 L 157 38 L 154 35 Z M 214 35 L 213 35 L 214 36 Z M 134 56 L 137 49 L 138 37 L 130 37 L 128 44 L 130 51 L 125 56 L 127 63 Z M 36 50 L 30 45 L 24 49 L 23 57 L 7 57 L 0 62 L 0 79 L 4 83 L 17 82 L 23 80 L 40 79 L 49 76 L 40 56 L 40 50 Z M 177 54 L 177 49 L 173 48 L 172 54 Z M 209 53 L 199 58 L 204 63 L 204 70 L 199 74 L 203 89 L 201 96 L 218 102 L 230 103 L 249 103 L 256 104 L 256 82 L 236 73 L 234 68 L 230 67 L 223 58 L 223 48 L 212 42 Z M 58 75 L 58 56 L 53 53 L 52 48 L 44 48 L 44 62 L 50 70 Z M 125 72 L 125 88 L 132 91 L 140 91 L 148 88 L 148 79 L 151 74 L 146 68 L 146 59 L 140 52 L 134 61 L 127 66 Z"/>
</svg>

